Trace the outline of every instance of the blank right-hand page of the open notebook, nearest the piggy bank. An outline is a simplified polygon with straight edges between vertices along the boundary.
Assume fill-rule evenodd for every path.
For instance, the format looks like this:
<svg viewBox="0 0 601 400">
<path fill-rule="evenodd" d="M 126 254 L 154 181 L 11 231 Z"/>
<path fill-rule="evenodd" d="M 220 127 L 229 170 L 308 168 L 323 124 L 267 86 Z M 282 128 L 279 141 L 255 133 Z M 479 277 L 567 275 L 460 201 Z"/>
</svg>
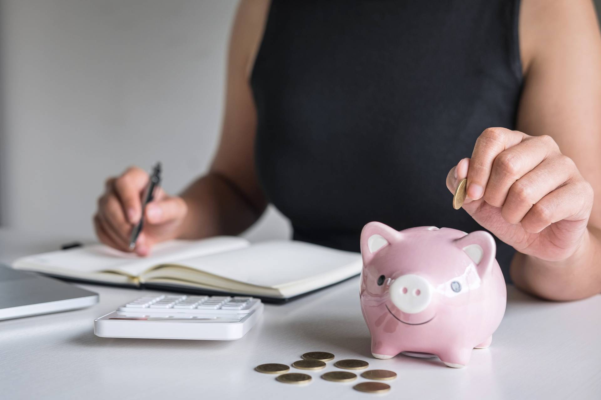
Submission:
<svg viewBox="0 0 601 400">
<path fill-rule="evenodd" d="M 359 253 L 302 241 L 273 240 L 227 253 L 185 259 L 178 264 L 226 279 L 275 288 L 311 277 L 317 279 L 359 259 Z"/>
</svg>

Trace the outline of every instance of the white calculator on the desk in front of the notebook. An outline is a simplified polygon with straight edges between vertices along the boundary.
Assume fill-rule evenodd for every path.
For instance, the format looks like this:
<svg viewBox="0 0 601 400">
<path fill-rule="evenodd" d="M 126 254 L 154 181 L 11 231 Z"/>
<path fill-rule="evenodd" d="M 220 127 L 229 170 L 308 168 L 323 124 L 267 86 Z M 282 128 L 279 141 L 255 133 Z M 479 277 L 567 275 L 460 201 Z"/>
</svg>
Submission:
<svg viewBox="0 0 601 400">
<path fill-rule="evenodd" d="M 160 295 L 140 297 L 94 320 L 103 338 L 240 339 L 263 314 L 253 297 Z"/>
</svg>

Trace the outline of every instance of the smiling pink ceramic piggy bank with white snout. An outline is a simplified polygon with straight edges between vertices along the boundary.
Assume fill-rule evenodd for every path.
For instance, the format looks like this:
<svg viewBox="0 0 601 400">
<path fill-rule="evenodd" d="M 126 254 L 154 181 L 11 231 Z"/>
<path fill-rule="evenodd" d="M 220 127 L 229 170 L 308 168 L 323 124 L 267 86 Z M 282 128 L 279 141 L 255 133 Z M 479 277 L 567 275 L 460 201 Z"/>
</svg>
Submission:
<svg viewBox="0 0 601 400">
<path fill-rule="evenodd" d="M 495 250 L 484 231 L 365 225 L 360 295 L 373 356 L 429 353 L 461 368 L 489 347 L 507 303 Z"/>
</svg>

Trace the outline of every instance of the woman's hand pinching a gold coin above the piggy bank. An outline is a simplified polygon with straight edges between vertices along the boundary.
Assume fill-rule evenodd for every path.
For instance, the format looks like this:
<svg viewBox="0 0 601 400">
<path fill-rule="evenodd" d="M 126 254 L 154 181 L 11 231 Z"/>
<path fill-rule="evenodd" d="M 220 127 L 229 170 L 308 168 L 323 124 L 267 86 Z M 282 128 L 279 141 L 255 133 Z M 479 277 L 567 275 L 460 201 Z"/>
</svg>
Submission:
<svg viewBox="0 0 601 400">
<path fill-rule="evenodd" d="M 471 159 L 449 171 L 451 193 L 463 178 L 468 178 L 463 209 L 521 253 L 561 261 L 588 233 L 593 189 L 551 136 L 486 129 Z"/>
</svg>

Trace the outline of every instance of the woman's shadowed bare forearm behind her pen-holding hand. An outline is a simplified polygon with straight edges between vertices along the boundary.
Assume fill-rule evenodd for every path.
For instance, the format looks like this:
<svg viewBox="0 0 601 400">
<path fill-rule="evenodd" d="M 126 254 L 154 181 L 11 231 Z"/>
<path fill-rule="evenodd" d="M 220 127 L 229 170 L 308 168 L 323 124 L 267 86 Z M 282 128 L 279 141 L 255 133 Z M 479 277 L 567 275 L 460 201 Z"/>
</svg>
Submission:
<svg viewBox="0 0 601 400">
<path fill-rule="evenodd" d="M 227 177 L 209 172 L 182 193 L 188 214 L 179 238 L 197 239 L 215 235 L 237 235 L 263 213 L 266 204 L 252 204 Z"/>
</svg>

